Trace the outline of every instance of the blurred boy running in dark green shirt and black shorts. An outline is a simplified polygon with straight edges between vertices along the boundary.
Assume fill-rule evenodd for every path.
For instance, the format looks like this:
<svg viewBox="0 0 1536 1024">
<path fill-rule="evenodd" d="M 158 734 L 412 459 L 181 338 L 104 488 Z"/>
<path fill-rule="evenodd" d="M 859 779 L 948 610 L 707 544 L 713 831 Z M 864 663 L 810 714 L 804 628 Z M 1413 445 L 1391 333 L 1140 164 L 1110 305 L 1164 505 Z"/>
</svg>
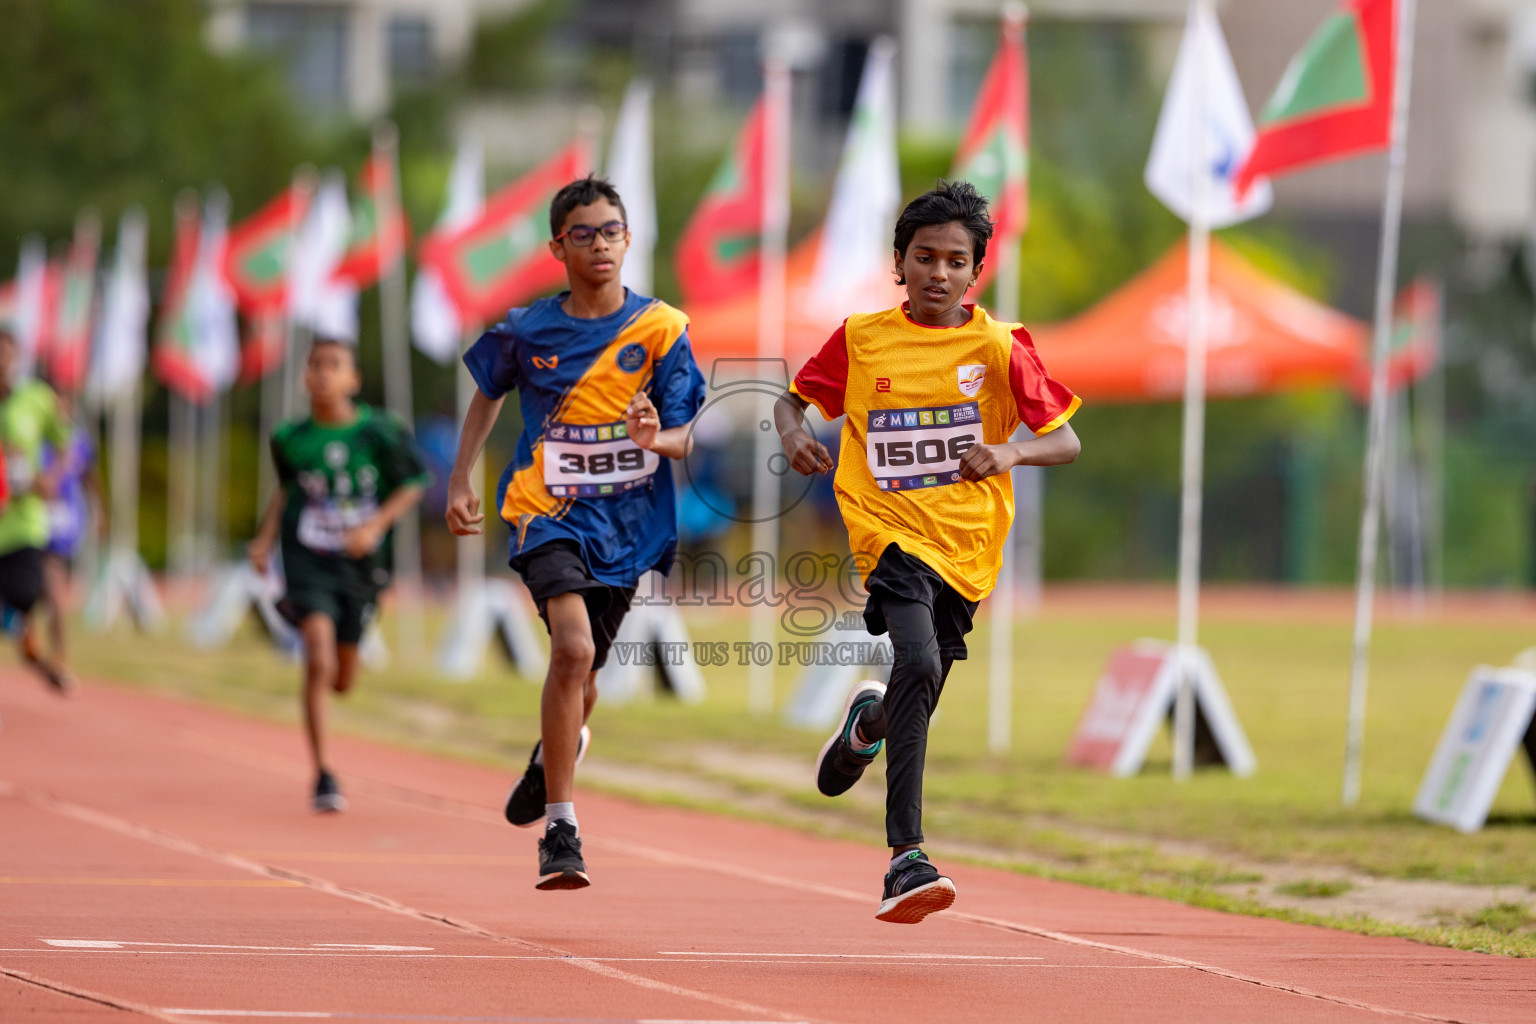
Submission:
<svg viewBox="0 0 1536 1024">
<path fill-rule="evenodd" d="M 430 482 L 410 431 L 355 401 L 352 345 L 316 338 L 304 367 L 310 415 L 272 433 L 278 490 L 250 542 L 267 571 L 281 534 L 287 593 L 278 611 L 304 637 L 304 729 L 315 763 L 315 811 L 347 806 L 326 763 L 326 691 L 346 694 L 358 642 L 389 585 L 389 531 Z"/>
</svg>

